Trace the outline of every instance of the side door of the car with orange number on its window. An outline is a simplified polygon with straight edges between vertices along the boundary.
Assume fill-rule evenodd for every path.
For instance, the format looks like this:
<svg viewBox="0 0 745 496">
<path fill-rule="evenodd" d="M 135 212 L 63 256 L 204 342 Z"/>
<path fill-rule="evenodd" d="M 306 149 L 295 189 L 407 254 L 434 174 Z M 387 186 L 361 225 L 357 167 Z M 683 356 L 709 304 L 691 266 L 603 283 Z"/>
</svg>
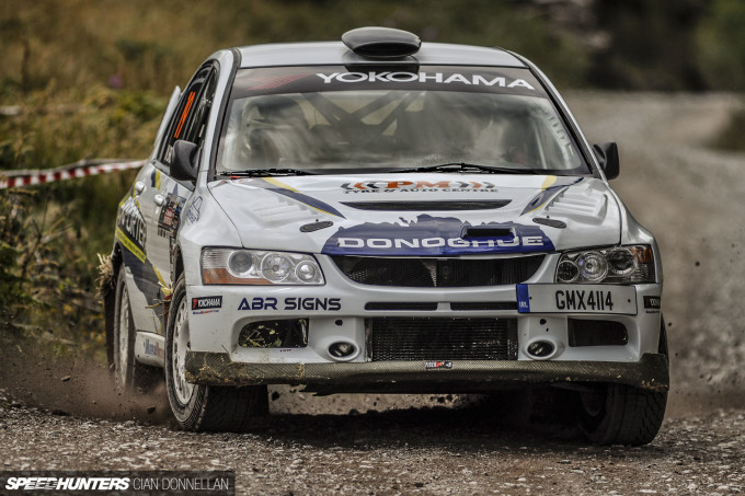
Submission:
<svg viewBox="0 0 745 496">
<path fill-rule="evenodd" d="M 203 66 L 181 94 L 179 105 L 163 127 L 152 160 L 144 170 L 138 187 L 142 217 L 148 228 L 145 251 L 152 284 L 161 288 L 161 300 L 170 293 L 171 258 L 181 224 L 181 214 L 194 185 L 175 181 L 170 175 L 173 145 L 180 140 L 203 145 L 205 126 L 211 108 L 217 81 L 217 67 Z M 163 332 L 163 312 L 156 311 L 157 328 Z"/>
</svg>

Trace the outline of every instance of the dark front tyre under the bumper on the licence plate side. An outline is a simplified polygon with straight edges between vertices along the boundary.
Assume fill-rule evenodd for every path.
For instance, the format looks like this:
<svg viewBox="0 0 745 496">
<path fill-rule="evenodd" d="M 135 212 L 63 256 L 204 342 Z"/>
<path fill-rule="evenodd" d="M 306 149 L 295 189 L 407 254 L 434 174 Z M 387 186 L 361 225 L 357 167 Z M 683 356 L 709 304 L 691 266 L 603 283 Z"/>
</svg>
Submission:
<svg viewBox="0 0 745 496">
<path fill-rule="evenodd" d="M 662 321 L 660 353 L 667 355 Z M 649 391 L 626 384 L 599 384 L 580 394 L 582 428 L 596 445 L 641 446 L 651 442 L 662 426 L 667 391 Z"/>
</svg>

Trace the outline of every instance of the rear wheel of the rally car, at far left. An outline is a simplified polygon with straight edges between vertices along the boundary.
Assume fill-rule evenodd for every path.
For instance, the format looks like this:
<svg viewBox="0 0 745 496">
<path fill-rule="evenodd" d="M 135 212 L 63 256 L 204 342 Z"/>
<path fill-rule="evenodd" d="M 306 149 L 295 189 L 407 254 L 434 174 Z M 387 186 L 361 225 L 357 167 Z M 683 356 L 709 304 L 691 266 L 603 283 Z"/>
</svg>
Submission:
<svg viewBox="0 0 745 496">
<path fill-rule="evenodd" d="M 147 391 L 157 382 L 159 376 L 156 367 L 148 367 L 135 359 L 135 335 L 125 268 L 122 265 L 116 279 L 114 328 L 108 346 L 113 351 L 110 369 L 114 374 L 114 382 L 125 392 Z"/>
</svg>

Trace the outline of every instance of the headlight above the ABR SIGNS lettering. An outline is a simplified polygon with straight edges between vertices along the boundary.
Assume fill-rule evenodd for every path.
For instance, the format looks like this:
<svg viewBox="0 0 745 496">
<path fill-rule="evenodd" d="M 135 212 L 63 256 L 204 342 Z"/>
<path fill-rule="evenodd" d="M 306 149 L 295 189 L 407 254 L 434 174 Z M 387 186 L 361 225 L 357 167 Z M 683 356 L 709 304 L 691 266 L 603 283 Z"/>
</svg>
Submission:
<svg viewBox="0 0 745 496">
<path fill-rule="evenodd" d="M 323 273 L 312 255 L 264 250 L 204 249 L 205 285 L 322 285 Z"/>
</svg>

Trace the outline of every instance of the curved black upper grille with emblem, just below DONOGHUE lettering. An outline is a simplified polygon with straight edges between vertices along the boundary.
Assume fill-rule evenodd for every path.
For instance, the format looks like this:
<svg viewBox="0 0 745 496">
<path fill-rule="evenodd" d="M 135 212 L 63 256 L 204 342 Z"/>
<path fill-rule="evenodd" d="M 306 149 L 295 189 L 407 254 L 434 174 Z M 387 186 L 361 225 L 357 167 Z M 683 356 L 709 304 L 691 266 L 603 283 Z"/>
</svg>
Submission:
<svg viewBox="0 0 745 496">
<path fill-rule="evenodd" d="M 515 285 L 529 279 L 545 255 L 509 258 L 396 258 L 334 255 L 355 282 L 415 288 Z"/>
</svg>

